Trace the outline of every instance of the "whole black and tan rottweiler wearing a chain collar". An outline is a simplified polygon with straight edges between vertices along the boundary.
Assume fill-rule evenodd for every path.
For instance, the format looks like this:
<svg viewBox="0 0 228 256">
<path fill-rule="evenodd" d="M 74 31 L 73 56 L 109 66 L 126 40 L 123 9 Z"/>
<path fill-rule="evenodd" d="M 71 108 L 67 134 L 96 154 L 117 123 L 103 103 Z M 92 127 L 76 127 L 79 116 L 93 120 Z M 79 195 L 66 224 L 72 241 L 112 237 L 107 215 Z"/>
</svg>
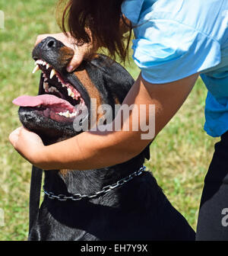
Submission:
<svg viewBox="0 0 228 256">
<path fill-rule="evenodd" d="M 122 66 L 103 55 L 68 73 L 73 54 L 52 37 L 39 43 L 33 50 L 34 72 L 42 70 L 39 95 L 14 101 L 21 106 L 21 123 L 46 145 L 81 133 L 74 129 L 74 119 L 81 107 L 90 110 L 90 98 L 97 106 L 109 104 L 115 117 L 115 104 L 122 104 L 134 84 Z M 149 147 L 109 168 L 45 171 L 45 196 L 29 240 L 195 240 L 194 230 L 151 172 L 138 171 L 145 158 L 150 158 Z"/>
</svg>

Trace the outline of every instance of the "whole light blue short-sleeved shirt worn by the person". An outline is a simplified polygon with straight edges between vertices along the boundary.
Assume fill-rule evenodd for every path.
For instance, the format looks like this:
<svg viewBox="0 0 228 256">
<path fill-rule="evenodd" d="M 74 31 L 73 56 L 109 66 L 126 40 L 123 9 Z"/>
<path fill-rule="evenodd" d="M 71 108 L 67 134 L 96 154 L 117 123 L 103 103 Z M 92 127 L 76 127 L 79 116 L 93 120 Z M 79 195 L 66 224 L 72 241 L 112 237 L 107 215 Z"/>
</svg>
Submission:
<svg viewBox="0 0 228 256">
<path fill-rule="evenodd" d="M 125 0 L 122 13 L 135 26 L 133 59 L 150 83 L 197 72 L 207 87 L 204 130 L 228 130 L 228 1 Z"/>
</svg>

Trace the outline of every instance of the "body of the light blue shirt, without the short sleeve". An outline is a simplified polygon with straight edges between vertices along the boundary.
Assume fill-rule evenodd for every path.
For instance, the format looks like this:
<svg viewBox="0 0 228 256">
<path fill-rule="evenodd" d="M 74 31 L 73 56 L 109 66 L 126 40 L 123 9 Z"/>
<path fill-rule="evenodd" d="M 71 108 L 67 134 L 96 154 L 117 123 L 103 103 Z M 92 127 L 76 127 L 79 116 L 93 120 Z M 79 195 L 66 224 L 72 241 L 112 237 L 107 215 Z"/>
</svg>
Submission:
<svg viewBox="0 0 228 256">
<path fill-rule="evenodd" d="M 135 26 L 136 38 L 142 36 L 141 24 L 160 19 L 184 24 L 214 40 L 217 65 L 201 72 L 209 91 L 205 130 L 211 136 L 220 136 L 228 130 L 228 1 L 125 0 L 122 9 Z M 182 37 L 185 37 L 185 33 Z M 198 54 L 195 58 L 198 58 Z"/>
</svg>

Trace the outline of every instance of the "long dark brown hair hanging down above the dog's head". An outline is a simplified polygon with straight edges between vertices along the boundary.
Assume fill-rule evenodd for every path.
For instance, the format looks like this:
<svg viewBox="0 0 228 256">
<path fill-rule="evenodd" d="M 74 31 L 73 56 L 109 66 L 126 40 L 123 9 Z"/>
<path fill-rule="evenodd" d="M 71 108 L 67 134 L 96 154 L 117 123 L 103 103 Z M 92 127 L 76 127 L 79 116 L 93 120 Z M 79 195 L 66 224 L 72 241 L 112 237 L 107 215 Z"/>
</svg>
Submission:
<svg viewBox="0 0 228 256">
<path fill-rule="evenodd" d="M 131 40 L 131 24 L 123 18 L 122 2 L 124 0 L 60 0 L 58 13 L 61 11 L 62 18 L 59 26 L 63 32 L 70 32 L 78 44 L 92 40 L 99 48 L 106 48 L 113 59 L 119 56 L 121 61 L 125 61 Z M 127 37 L 126 27 L 130 30 Z M 88 29 L 91 34 L 87 33 Z M 125 39 L 128 39 L 127 43 Z"/>
</svg>

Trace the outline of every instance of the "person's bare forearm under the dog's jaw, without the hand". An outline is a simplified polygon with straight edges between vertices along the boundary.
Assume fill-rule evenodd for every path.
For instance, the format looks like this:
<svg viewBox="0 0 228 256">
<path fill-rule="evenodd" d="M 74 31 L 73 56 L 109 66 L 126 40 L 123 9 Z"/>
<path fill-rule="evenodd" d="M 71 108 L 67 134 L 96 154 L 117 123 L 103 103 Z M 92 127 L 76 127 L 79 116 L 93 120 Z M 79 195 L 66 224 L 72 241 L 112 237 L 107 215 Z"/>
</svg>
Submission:
<svg viewBox="0 0 228 256">
<path fill-rule="evenodd" d="M 117 135 L 116 133 L 125 134 Z M 46 170 L 88 170 L 126 162 L 137 153 L 131 150 L 131 146 L 129 146 L 131 142 L 125 136 L 127 132 L 116 133 L 85 132 L 71 139 L 46 146 L 45 151 L 42 152 L 42 167 Z M 116 136 L 122 137 L 122 142 L 115 145 L 112 141 L 115 140 Z M 111 143 L 112 145 L 109 145 Z"/>
</svg>

